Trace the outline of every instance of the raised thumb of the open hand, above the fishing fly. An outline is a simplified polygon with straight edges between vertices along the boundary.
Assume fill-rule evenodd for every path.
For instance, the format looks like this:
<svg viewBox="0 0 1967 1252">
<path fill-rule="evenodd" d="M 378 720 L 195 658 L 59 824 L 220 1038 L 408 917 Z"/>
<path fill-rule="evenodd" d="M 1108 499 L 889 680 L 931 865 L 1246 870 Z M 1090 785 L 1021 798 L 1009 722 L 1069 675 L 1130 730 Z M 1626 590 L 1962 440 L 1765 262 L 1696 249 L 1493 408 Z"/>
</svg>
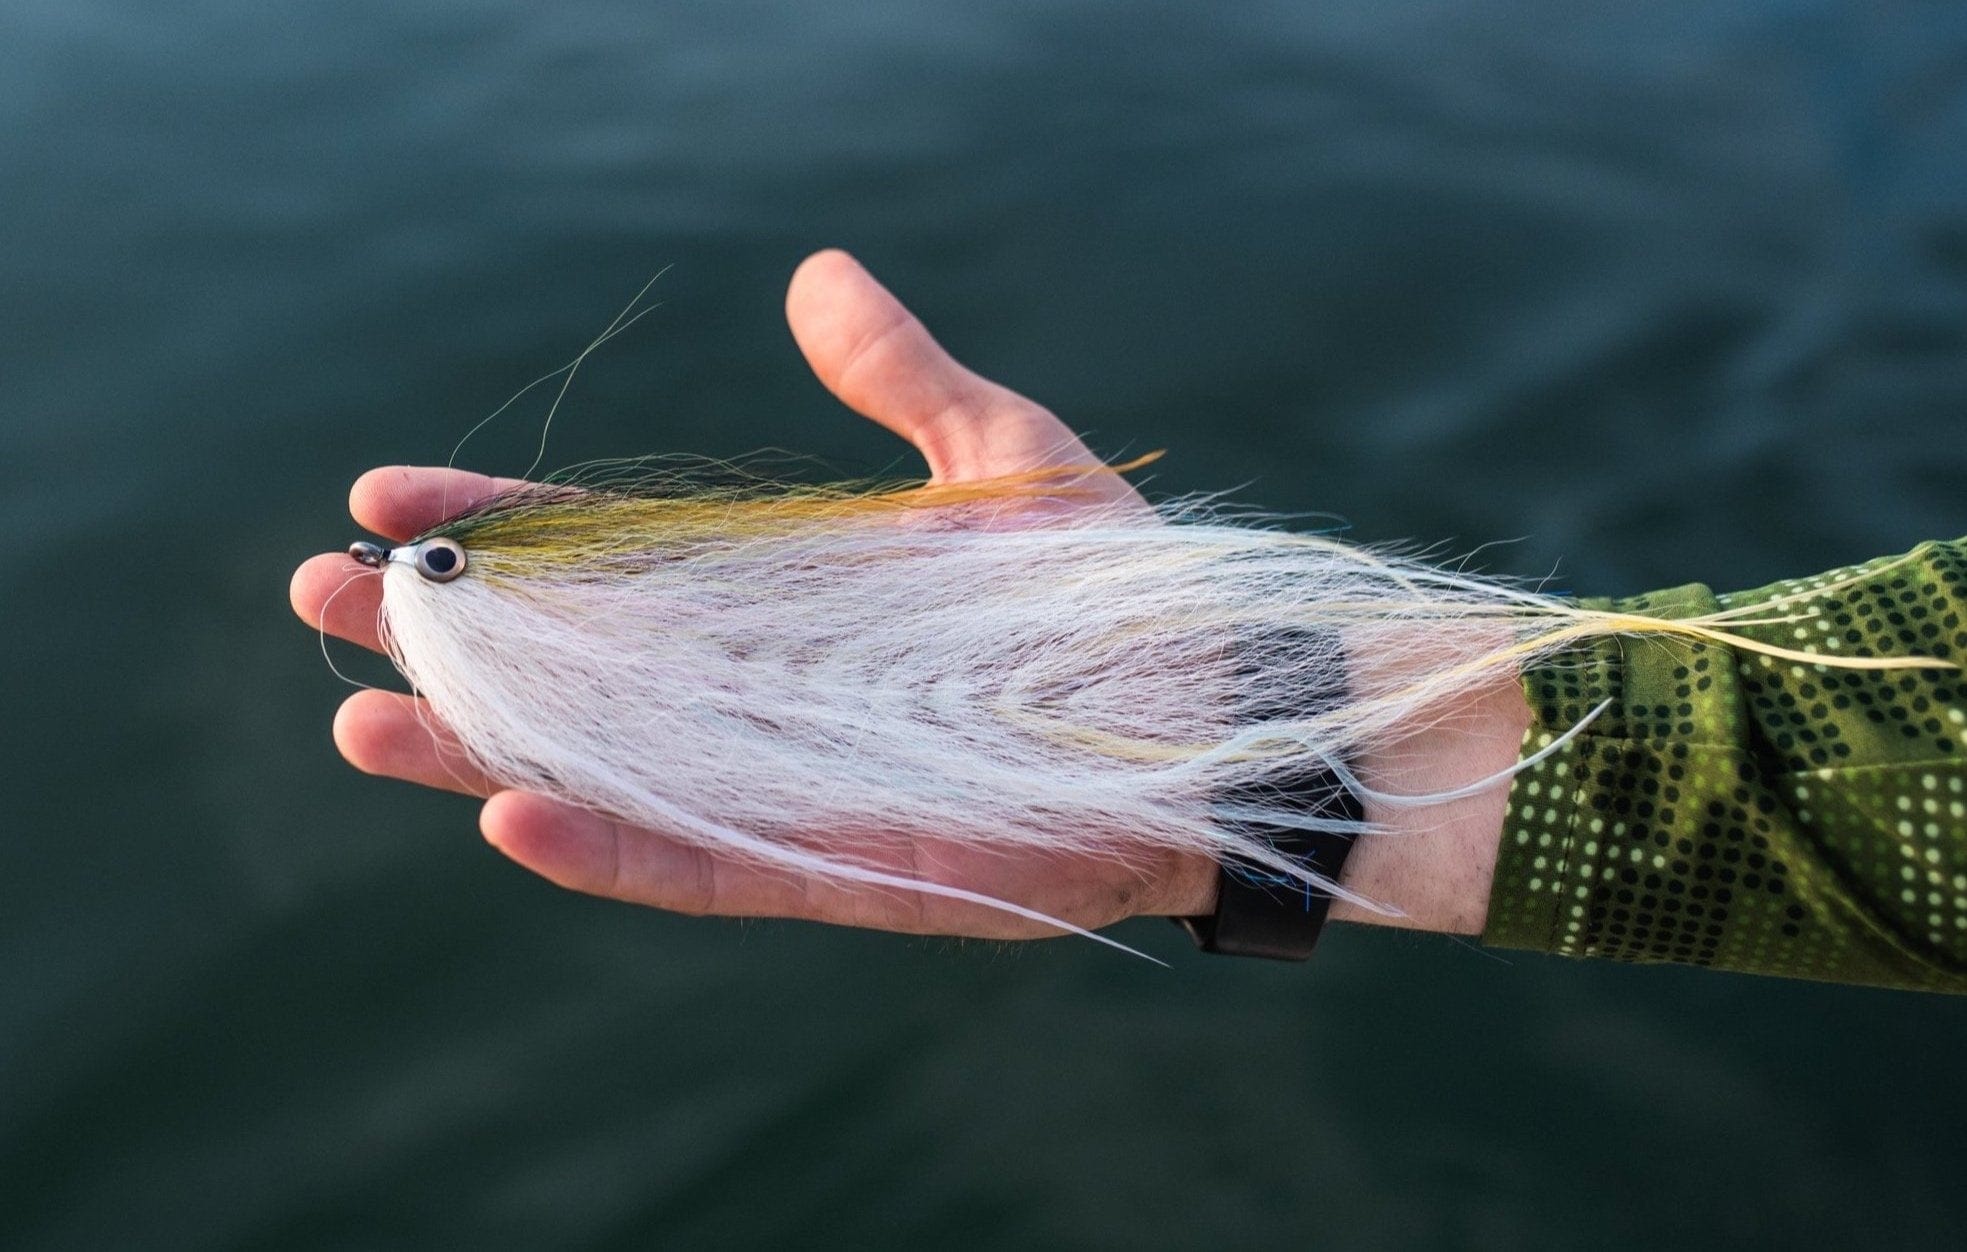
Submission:
<svg viewBox="0 0 1967 1252">
<path fill-rule="evenodd" d="M 840 250 L 816 252 L 801 263 L 785 293 L 785 318 L 820 383 L 846 407 L 915 444 L 936 480 L 1092 460 L 1048 411 L 950 358 L 901 301 Z"/>
</svg>

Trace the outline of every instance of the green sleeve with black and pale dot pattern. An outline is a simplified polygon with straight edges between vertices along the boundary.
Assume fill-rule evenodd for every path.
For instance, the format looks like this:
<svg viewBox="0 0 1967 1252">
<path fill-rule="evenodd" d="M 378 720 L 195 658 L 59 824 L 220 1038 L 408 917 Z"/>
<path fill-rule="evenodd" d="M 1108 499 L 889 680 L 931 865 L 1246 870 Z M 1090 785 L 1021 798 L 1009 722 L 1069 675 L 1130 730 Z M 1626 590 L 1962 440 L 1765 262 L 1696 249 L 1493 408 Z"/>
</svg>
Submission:
<svg viewBox="0 0 1967 1252">
<path fill-rule="evenodd" d="M 1847 582 L 1863 574 L 1859 582 Z M 1658 617 L 1768 603 L 1741 635 L 1843 656 L 1967 656 L 1967 541 L 1739 596 L 1585 601 Z M 1796 617 L 1768 621 L 1768 617 Z M 1967 993 L 1967 682 L 1623 637 L 1522 678 L 1483 941 Z"/>
</svg>

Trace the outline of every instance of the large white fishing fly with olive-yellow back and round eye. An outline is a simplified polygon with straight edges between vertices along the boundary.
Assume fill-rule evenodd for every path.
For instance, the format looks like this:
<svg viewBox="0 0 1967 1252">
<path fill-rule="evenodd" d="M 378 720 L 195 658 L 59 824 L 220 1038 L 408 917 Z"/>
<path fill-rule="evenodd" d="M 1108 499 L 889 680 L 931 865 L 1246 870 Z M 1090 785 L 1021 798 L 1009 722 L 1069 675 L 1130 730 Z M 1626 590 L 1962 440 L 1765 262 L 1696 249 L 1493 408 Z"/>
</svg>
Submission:
<svg viewBox="0 0 1967 1252">
<path fill-rule="evenodd" d="M 1381 804 L 1501 784 L 1387 796 L 1347 763 L 1581 641 L 1934 664 L 1741 633 L 1810 615 L 1800 601 L 1597 611 L 1210 501 L 1151 509 L 1090 487 L 1129 468 L 787 485 L 633 462 L 350 554 L 382 572 L 391 658 L 488 776 L 724 857 L 1078 934 L 869 853 L 1182 851 L 1357 900 L 1251 833 L 1371 833 L 1306 816 L 1288 780 L 1332 770 Z M 828 835 L 842 829 L 852 847 Z"/>
</svg>

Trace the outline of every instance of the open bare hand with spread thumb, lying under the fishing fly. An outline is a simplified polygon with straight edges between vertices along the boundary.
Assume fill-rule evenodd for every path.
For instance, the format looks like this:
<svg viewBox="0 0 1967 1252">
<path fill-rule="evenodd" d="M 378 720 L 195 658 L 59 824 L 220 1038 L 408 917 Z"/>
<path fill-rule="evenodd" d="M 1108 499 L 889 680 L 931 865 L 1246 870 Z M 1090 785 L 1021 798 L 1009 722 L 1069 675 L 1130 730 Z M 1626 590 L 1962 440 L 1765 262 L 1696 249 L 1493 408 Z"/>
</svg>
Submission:
<svg viewBox="0 0 1967 1252">
<path fill-rule="evenodd" d="M 1100 466 L 1041 405 L 978 377 L 930 338 L 873 277 L 842 252 L 820 252 L 793 275 L 787 320 L 818 379 L 850 409 L 907 438 L 936 482 L 997 478 L 1041 466 Z M 356 521 L 405 541 L 513 485 L 456 470 L 384 468 L 350 493 Z M 1113 474 L 1086 480 L 1100 503 L 1139 495 Z M 1145 507 L 1145 505 L 1143 505 Z M 376 649 L 382 580 L 344 554 L 315 556 L 293 576 L 293 607 L 309 625 Z M 411 696 L 358 692 L 334 719 L 342 755 L 372 774 L 484 796 L 486 839 L 519 865 L 574 890 L 686 914 L 777 916 L 913 934 L 1035 938 L 1058 934 L 1013 914 L 924 892 L 799 879 L 637 829 L 547 796 L 504 790 L 462 765 L 462 749 Z M 875 831 L 865 831 L 873 835 Z M 1135 914 L 1200 914 L 1214 906 L 1206 857 L 1105 857 L 976 851 L 958 843 L 891 841 L 832 831 L 828 843 L 911 879 L 1017 902 L 1100 928 Z"/>
</svg>

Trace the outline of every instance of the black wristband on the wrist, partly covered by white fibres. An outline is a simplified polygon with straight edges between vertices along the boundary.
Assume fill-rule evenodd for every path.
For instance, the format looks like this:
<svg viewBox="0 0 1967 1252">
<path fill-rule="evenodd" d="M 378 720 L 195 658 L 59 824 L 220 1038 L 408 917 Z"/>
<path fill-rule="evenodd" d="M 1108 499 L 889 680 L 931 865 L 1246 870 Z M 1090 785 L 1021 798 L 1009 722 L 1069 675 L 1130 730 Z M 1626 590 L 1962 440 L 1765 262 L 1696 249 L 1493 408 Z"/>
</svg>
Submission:
<svg viewBox="0 0 1967 1252">
<path fill-rule="evenodd" d="M 1330 635 L 1310 631 L 1271 637 L 1245 645 L 1243 672 L 1263 664 L 1265 654 L 1279 647 L 1306 647 L 1322 643 L 1334 647 Z M 1271 717 L 1312 715 L 1330 708 L 1343 690 L 1316 692 L 1296 702 L 1292 710 L 1261 708 L 1251 704 L 1247 713 L 1255 721 Z M 1225 800 L 1249 800 L 1249 796 L 1227 796 Z M 1296 774 L 1277 778 L 1265 788 L 1263 800 L 1306 818 L 1336 818 L 1349 824 L 1365 820 L 1365 806 L 1353 796 L 1340 776 L 1324 767 L 1306 767 Z M 1310 831 L 1294 825 L 1273 825 L 1245 822 L 1241 831 L 1269 843 L 1279 853 L 1298 861 L 1330 882 L 1338 882 L 1351 853 L 1351 831 Z M 1332 896 L 1277 873 L 1275 869 L 1225 861 L 1216 873 L 1216 912 L 1198 918 L 1176 918 L 1176 922 L 1196 939 L 1196 947 L 1233 957 L 1269 957 L 1273 961 L 1304 961 L 1318 945 L 1318 934 L 1332 912 Z"/>
</svg>

